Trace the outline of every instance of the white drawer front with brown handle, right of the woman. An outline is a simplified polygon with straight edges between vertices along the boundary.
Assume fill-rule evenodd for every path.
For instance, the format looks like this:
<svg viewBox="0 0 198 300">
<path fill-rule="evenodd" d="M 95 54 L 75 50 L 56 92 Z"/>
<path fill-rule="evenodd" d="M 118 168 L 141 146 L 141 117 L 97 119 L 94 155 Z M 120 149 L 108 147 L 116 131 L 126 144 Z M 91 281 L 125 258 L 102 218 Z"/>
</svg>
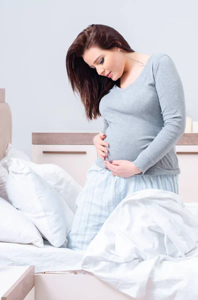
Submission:
<svg viewBox="0 0 198 300">
<path fill-rule="evenodd" d="M 176 152 L 181 169 L 179 195 L 184 202 L 198 202 L 198 145 L 176 145 Z"/>
</svg>

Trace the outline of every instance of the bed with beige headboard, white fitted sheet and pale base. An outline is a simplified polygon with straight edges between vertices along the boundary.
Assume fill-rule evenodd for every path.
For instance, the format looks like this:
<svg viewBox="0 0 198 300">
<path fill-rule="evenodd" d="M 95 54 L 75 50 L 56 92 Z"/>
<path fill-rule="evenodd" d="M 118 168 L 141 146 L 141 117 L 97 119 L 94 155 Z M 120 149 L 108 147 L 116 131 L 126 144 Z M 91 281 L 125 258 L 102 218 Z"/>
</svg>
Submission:
<svg viewBox="0 0 198 300">
<path fill-rule="evenodd" d="M 9 105 L 4 103 L 4 90 L 2 89 L 0 89 L 0 102 L 1 159 L 8 142 L 11 143 L 11 112 Z M 198 203 L 189 202 L 185 205 L 198 218 Z M 81 260 L 84 252 L 73 251 L 64 246 L 57 248 L 46 240 L 42 248 L 33 244 L 0 242 L 0 265 L 34 265 L 36 300 L 134 299 L 82 269 Z M 144 277 L 142 272 L 140 275 Z M 146 300 L 146 297 L 144 299 Z M 172 297 L 172 299 L 175 298 Z M 184 295 L 183 299 L 189 299 L 189 297 Z"/>
</svg>

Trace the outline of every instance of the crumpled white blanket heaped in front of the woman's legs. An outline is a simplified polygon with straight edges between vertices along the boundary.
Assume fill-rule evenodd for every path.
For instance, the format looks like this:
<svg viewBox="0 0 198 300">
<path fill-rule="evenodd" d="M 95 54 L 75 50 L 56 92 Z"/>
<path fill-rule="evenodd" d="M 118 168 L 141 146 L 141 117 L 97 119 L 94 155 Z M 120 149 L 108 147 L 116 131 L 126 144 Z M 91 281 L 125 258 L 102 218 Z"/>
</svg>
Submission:
<svg viewBox="0 0 198 300">
<path fill-rule="evenodd" d="M 124 198 L 87 247 L 82 268 L 137 299 L 198 299 L 198 220 L 176 193 Z"/>
</svg>

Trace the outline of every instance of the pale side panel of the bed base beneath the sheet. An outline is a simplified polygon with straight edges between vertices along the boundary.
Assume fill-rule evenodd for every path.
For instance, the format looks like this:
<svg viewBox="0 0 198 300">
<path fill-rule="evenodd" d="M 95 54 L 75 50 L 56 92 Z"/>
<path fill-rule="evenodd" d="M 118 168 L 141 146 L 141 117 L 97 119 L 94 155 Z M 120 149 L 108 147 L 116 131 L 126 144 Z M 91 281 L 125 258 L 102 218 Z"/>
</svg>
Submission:
<svg viewBox="0 0 198 300">
<path fill-rule="evenodd" d="M 36 300 L 133 300 L 92 274 L 42 274 L 34 277 Z"/>
</svg>

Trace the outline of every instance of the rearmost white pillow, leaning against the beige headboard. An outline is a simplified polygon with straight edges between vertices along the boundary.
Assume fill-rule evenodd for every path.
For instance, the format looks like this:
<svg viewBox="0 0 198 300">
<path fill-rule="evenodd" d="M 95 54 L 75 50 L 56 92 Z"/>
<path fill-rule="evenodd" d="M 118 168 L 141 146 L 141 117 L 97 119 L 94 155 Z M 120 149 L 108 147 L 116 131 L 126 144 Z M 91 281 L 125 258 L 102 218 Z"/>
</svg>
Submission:
<svg viewBox="0 0 198 300">
<path fill-rule="evenodd" d="M 21 158 L 23 160 L 31 161 L 30 158 L 21 150 L 16 150 L 10 143 L 8 143 L 4 157 L 0 160 L 0 197 L 8 201 L 5 190 L 5 183 L 7 181 L 8 172 L 2 166 L 2 163 L 10 158 Z"/>
</svg>

